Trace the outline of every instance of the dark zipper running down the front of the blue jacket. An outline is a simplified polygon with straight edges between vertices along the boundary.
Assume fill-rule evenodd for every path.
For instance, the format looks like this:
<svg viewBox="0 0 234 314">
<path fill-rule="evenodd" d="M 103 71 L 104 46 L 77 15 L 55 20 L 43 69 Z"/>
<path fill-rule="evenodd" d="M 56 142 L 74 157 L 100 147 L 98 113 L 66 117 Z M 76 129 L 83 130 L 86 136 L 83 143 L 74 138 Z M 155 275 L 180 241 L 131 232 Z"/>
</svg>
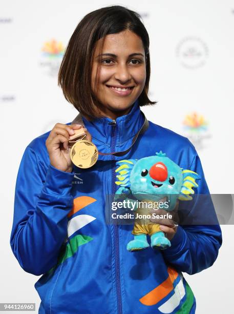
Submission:
<svg viewBox="0 0 234 314">
<path fill-rule="evenodd" d="M 110 123 L 112 128 L 111 136 L 111 152 L 115 151 L 115 141 L 116 141 L 116 121 L 113 120 Z M 115 160 L 115 156 L 112 155 L 112 159 Z M 115 186 L 115 163 L 112 166 L 112 192 L 116 192 Z M 117 290 L 117 308 L 118 314 L 122 314 L 122 300 L 121 300 L 121 287 L 120 287 L 120 274 L 119 274 L 119 226 L 113 224 L 114 226 L 114 242 L 115 242 L 115 273 L 116 273 L 116 290 Z"/>
</svg>

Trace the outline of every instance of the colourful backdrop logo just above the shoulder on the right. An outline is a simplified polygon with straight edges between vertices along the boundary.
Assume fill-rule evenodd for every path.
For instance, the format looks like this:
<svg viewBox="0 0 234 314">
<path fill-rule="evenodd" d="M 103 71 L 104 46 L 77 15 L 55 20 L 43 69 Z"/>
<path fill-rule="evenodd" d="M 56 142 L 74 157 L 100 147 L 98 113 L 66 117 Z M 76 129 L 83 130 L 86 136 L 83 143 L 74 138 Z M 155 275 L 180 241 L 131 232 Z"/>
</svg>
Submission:
<svg viewBox="0 0 234 314">
<path fill-rule="evenodd" d="M 204 149 L 206 140 L 211 138 L 208 131 L 208 122 L 204 116 L 193 112 L 187 114 L 183 120 L 184 135 L 194 144 L 196 149 Z"/>
</svg>

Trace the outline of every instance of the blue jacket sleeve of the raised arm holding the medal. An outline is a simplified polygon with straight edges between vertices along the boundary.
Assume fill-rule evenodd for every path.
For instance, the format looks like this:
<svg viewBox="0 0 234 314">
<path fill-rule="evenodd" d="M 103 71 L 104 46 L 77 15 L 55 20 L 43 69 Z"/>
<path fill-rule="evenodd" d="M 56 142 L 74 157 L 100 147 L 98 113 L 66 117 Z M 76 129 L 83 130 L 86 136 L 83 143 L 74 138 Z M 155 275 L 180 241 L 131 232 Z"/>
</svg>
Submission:
<svg viewBox="0 0 234 314">
<path fill-rule="evenodd" d="M 74 173 L 51 164 L 46 171 L 43 167 L 35 151 L 27 146 L 16 179 L 10 235 L 11 249 L 20 266 L 37 276 L 56 264 L 73 206 Z"/>
</svg>

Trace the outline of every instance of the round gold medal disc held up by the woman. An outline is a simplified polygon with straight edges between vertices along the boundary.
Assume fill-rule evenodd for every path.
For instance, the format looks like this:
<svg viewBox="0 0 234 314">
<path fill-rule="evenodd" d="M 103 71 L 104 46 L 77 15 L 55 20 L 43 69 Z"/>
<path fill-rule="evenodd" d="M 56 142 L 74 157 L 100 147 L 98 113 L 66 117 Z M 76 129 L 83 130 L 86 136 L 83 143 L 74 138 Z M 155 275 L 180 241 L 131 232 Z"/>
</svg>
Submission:
<svg viewBox="0 0 234 314">
<path fill-rule="evenodd" d="M 90 168 L 98 159 L 97 147 L 90 141 L 78 140 L 71 148 L 71 160 L 79 168 Z"/>
</svg>

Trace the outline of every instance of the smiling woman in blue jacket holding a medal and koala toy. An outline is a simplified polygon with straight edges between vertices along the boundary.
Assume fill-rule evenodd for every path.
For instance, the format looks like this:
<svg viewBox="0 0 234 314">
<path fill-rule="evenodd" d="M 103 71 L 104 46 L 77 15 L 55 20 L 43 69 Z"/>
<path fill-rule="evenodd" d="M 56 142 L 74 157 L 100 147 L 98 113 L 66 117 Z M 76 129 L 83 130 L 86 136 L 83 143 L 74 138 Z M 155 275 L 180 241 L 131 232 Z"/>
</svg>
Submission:
<svg viewBox="0 0 234 314">
<path fill-rule="evenodd" d="M 140 106 L 155 104 L 147 96 L 148 48 L 139 15 L 121 6 L 84 16 L 69 41 L 58 82 L 100 152 L 129 148 L 144 123 Z M 81 169 L 70 159 L 69 138 L 80 128 L 76 121 L 57 123 L 34 139 L 17 176 L 10 244 L 25 271 L 43 274 L 35 284 L 39 313 L 194 313 L 195 298 L 181 272 L 197 273 L 215 262 L 219 225 L 165 223 L 161 230 L 171 247 L 129 252 L 133 226 L 105 221 L 105 201 L 116 191 L 121 159 L 162 150 L 199 173 L 198 194 L 209 193 L 194 146 L 148 122 L 123 156 L 99 155 L 94 166 Z"/>
</svg>

